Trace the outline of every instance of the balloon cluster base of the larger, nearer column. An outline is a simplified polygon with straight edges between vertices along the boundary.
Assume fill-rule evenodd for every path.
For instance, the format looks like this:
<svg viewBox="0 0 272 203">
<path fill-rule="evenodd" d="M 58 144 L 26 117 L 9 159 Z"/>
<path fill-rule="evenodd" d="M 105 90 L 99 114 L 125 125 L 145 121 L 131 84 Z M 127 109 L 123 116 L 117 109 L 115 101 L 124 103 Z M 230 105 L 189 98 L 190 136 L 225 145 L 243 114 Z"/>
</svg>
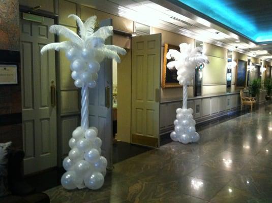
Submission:
<svg viewBox="0 0 272 203">
<path fill-rule="evenodd" d="M 61 179 L 68 190 L 89 188 L 99 189 L 104 184 L 107 160 L 101 156 L 102 141 L 96 127 L 77 127 L 69 141 L 69 156 L 63 160 L 67 171 Z"/>
</svg>

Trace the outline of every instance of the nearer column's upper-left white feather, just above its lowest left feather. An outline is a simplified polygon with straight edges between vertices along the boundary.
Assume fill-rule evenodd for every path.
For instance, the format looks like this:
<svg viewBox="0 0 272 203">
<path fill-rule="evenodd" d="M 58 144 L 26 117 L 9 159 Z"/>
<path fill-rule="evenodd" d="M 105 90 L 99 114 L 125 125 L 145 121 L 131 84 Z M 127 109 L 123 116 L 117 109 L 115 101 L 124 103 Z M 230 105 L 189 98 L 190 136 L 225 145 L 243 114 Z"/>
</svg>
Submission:
<svg viewBox="0 0 272 203">
<path fill-rule="evenodd" d="M 82 44 L 82 39 L 74 31 L 63 25 L 52 25 L 50 26 L 49 31 L 56 35 L 63 35 L 78 45 Z"/>
</svg>

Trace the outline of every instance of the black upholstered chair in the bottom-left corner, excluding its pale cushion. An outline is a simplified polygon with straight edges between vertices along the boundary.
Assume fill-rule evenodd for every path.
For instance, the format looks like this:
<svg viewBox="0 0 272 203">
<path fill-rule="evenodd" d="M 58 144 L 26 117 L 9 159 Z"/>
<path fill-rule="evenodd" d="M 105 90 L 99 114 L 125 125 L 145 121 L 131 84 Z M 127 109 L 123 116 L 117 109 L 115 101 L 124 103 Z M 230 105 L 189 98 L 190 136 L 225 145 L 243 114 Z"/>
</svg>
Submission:
<svg viewBox="0 0 272 203">
<path fill-rule="evenodd" d="M 0 203 L 50 203 L 45 193 L 36 193 L 23 178 L 24 151 L 10 150 L 8 154 L 8 181 L 11 195 L 0 197 Z"/>
</svg>

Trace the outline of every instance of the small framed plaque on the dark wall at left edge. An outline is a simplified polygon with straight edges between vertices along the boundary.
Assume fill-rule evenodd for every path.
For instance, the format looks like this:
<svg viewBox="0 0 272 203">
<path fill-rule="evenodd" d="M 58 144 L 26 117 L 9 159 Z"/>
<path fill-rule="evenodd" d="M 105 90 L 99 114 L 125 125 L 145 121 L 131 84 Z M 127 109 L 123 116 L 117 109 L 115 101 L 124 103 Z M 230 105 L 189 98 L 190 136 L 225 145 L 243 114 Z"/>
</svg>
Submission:
<svg viewBox="0 0 272 203">
<path fill-rule="evenodd" d="M 0 65 L 0 84 L 18 84 L 17 65 Z"/>
</svg>

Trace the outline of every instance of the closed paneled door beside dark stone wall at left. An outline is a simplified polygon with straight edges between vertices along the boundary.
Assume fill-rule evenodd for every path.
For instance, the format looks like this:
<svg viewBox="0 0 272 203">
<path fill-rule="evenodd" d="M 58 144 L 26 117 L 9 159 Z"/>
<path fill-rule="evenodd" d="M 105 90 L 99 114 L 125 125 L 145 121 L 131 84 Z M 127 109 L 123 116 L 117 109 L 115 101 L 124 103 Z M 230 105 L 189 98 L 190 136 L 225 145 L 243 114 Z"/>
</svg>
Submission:
<svg viewBox="0 0 272 203">
<path fill-rule="evenodd" d="M 42 47 L 54 42 L 49 26 L 20 19 L 21 84 L 24 173 L 31 174 L 56 166 L 55 53 L 40 54 Z"/>
</svg>

